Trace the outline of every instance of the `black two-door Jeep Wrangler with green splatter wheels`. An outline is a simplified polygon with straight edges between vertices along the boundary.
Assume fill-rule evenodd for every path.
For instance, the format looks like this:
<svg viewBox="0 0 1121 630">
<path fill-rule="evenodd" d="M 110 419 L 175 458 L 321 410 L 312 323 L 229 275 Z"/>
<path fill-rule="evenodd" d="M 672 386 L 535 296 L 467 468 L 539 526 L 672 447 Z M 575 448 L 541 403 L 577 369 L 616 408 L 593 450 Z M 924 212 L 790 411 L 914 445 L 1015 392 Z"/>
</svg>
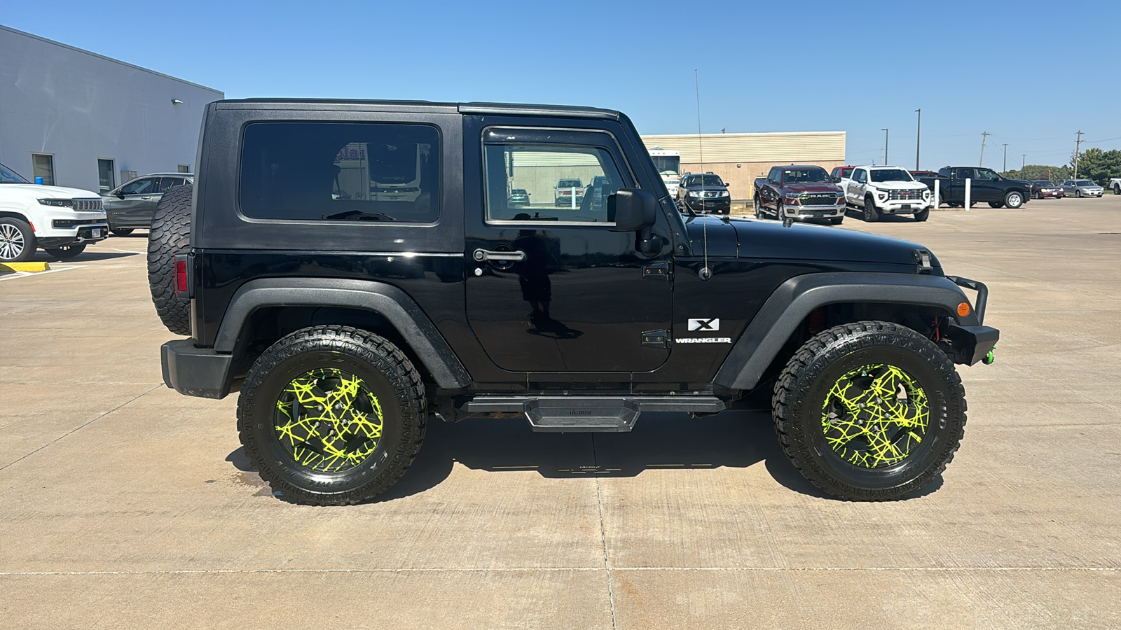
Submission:
<svg viewBox="0 0 1121 630">
<path fill-rule="evenodd" d="M 220 101 L 196 164 L 149 241 L 157 312 L 191 335 L 164 380 L 240 390 L 249 458 L 297 502 L 385 491 L 429 416 L 628 432 L 743 408 L 818 488 L 897 499 L 953 457 L 954 363 L 998 339 L 984 285 L 921 245 L 679 211 L 615 111 Z M 556 207 L 560 179 L 593 184 Z"/>
</svg>

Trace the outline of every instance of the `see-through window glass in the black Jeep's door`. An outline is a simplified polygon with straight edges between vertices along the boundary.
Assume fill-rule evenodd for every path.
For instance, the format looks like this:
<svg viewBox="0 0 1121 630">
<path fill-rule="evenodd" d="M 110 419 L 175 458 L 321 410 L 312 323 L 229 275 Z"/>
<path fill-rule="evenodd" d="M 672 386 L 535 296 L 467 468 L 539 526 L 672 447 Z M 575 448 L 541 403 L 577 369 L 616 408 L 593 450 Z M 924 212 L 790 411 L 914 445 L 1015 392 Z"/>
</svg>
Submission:
<svg viewBox="0 0 1121 630">
<path fill-rule="evenodd" d="M 606 148 L 488 143 L 485 155 L 488 223 L 614 223 L 608 198 L 623 186 Z M 510 203 L 515 189 L 529 203 Z"/>
</svg>

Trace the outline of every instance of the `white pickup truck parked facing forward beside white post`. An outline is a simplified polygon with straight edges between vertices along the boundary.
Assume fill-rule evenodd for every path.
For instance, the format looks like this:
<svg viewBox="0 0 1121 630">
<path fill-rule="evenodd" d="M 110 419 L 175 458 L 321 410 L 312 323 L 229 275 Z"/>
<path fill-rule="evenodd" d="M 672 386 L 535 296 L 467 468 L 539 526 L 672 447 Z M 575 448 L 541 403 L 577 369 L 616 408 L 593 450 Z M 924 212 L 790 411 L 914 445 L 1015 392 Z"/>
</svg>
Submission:
<svg viewBox="0 0 1121 630">
<path fill-rule="evenodd" d="M 864 221 L 879 221 L 881 214 L 911 214 L 915 221 L 926 221 L 934 207 L 926 184 L 898 166 L 858 166 L 837 185 L 847 205 L 863 209 Z"/>
</svg>

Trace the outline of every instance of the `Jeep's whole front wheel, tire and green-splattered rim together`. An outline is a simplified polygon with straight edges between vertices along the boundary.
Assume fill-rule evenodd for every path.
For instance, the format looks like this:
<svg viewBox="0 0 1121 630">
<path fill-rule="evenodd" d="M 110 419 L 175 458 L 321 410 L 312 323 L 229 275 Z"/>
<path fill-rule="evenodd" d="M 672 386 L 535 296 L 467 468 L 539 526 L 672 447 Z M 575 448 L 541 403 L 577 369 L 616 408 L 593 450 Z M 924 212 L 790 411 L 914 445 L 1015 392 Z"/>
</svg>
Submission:
<svg viewBox="0 0 1121 630">
<path fill-rule="evenodd" d="M 965 388 L 930 340 L 888 322 L 824 331 L 787 363 L 771 399 L 790 462 L 847 501 L 902 499 L 954 457 Z"/>
</svg>

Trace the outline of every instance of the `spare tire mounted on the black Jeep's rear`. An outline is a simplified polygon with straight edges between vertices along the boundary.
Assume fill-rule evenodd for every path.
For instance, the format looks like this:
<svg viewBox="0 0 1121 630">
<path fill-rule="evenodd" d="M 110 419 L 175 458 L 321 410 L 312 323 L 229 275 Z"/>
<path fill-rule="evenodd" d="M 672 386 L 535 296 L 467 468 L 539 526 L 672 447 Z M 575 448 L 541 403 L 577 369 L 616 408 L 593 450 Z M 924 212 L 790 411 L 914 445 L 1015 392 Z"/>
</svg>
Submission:
<svg viewBox="0 0 1121 630">
<path fill-rule="evenodd" d="M 191 300 L 175 291 L 175 257 L 191 250 L 192 184 L 169 188 L 159 200 L 148 231 L 148 288 L 167 330 L 191 334 Z"/>
</svg>

